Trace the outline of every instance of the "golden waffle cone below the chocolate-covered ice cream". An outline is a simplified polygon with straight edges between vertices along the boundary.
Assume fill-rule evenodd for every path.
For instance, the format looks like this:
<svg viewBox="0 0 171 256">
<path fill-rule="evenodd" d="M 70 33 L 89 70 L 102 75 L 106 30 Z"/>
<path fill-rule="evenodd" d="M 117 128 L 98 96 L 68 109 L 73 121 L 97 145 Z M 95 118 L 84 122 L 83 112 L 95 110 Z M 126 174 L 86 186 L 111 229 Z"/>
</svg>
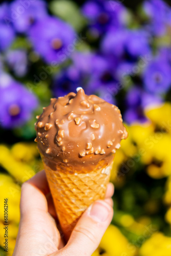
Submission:
<svg viewBox="0 0 171 256">
<path fill-rule="evenodd" d="M 52 170 L 44 162 L 56 213 L 68 241 L 78 219 L 95 200 L 104 199 L 112 164 L 88 173 L 69 174 Z"/>
</svg>

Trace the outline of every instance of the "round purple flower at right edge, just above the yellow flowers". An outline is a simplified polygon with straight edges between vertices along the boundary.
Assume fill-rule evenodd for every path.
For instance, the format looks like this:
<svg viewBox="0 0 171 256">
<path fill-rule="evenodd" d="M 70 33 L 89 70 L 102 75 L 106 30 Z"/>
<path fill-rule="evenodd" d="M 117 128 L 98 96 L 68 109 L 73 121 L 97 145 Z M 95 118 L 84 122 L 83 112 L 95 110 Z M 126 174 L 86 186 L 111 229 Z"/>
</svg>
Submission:
<svg viewBox="0 0 171 256">
<path fill-rule="evenodd" d="M 151 93 L 166 93 L 171 87 L 171 66 L 163 58 L 154 59 L 143 72 L 144 87 Z"/>
</svg>

